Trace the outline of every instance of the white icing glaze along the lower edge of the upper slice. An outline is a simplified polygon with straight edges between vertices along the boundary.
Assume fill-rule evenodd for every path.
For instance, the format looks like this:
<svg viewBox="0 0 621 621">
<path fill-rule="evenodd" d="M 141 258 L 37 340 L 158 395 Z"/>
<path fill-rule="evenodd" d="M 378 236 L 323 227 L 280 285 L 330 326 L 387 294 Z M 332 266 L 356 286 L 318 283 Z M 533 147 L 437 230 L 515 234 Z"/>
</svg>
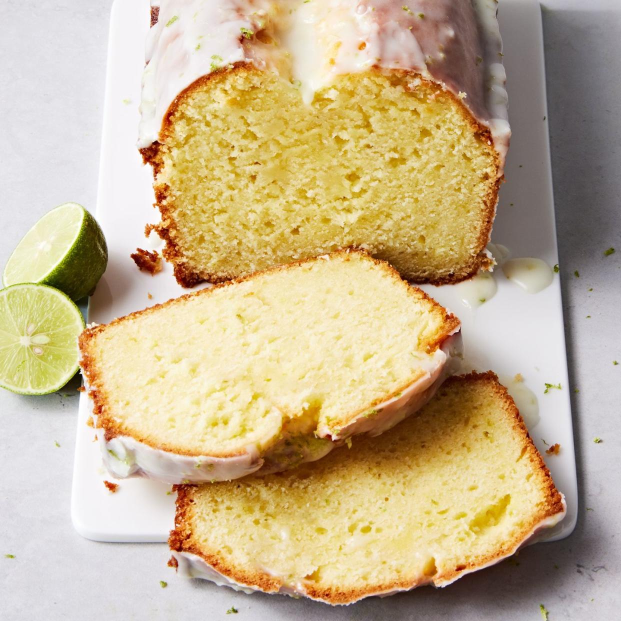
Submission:
<svg viewBox="0 0 621 621">
<path fill-rule="evenodd" d="M 165 483 L 206 483 L 230 481 L 257 471 L 259 474 L 278 472 L 305 461 L 315 461 L 341 446 L 351 435 L 379 435 L 424 406 L 450 372 L 452 365 L 447 363 L 461 354 L 461 333 L 456 329 L 436 351 L 420 357 L 420 366 L 425 372 L 422 378 L 410 384 L 401 395 L 375 406 L 375 415 L 358 417 L 338 433 L 326 425 L 317 428 L 317 438 L 304 439 L 285 432 L 263 455 L 256 446 L 249 445 L 240 455 L 213 457 L 179 455 L 125 435 L 106 439 L 105 430 L 97 428 L 104 465 L 119 479 L 143 477 Z M 93 418 L 97 419 L 95 414 Z M 265 469 L 261 469 L 264 462 Z"/>
</svg>

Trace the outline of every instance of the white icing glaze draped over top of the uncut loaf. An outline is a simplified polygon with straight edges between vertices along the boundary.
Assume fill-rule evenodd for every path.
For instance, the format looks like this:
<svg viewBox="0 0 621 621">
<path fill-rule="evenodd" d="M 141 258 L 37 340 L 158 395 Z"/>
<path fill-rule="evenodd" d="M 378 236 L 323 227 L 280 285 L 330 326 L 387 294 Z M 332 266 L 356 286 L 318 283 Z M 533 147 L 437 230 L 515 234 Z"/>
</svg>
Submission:
<svg viewBox="0 0 621 621">
<path fill-rule="evenodd" d="M 158 140 L 179 93 L 234 63 L 299 81 L 307 102 L 335 76 L 377 66 L 415 71 L 459 97 L 489 127 L 504 165 L 510 129 L 495 0 L 152 0 L 152 6 L 159 19 L 147 40 L 140 148 Z M 261 31 L 269 38 L 256 36 Z"/>
</svg>

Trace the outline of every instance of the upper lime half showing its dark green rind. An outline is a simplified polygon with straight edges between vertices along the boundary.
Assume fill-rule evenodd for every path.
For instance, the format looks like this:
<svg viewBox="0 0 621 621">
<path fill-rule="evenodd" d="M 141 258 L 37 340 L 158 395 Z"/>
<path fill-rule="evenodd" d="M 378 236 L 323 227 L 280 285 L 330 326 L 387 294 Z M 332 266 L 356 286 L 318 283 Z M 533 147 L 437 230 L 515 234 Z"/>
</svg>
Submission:
<svg viewBox="0 0 621 621">
<path fill-rule="evenodd" d="M 72 300 L 91 294 L 106 270 L 106 238 L 84 207 L 66 202 L 45 214 L 9 257 L 2 281 L 48 284 Z"/>
</svg>

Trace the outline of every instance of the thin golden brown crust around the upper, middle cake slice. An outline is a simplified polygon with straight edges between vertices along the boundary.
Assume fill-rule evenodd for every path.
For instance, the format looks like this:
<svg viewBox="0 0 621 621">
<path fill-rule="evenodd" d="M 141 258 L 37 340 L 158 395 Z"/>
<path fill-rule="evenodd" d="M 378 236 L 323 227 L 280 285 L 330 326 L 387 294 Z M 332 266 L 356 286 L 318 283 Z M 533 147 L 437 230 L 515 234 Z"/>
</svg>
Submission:
<svg viewBox="0 0 621 621">
<path fill-rule="evenodd" d="M 399 281 L 399 283 L 404 283 L 403 279 L 399 275 L 399 272 L 397 272 L 397 270 L 395 270 L 391 265 L 386 263 L 386 261 L 381 261 L 379 259 L 374 258 L 373 256 L 370 256 L 364 250 L 357 250 L 355 248 L 345 248 L 344 250 L 337 250 L 336 252 L 333 252 L 330 254 L 330 256 L 333 256 L 333 255 L 342 255 L 345 257 L 345 260 L 349 260 L 349 256 L 351 255 L 364 256 L 365 258 L 368 258 L 369 260 L 373 261 L 375 265 L 379 266 L 381 269 L 386 271 L 388 275 L 391 276 L 391 278 L 395 279 L 396 281 Z M 267 270 L 257 271 L 253 274 L 242 276 L 241 278 L 235 278 L 233 280 L 226 281 L 224 283 L 217 283 L 213 287 L 210 287 L 207 289 L 201 289 L 200 291 L 193 291 L 190 293 L 186 293 L 183 296 L 175 297 L 173 299 L 168 300 L 167 302 L 163 302 L 162 304 L 154 304 L 153 306 L 147 307 L 146 309 L 143 309 L 142 311 L 134 311 L 130 313 L 129 315 L 125 315 L 124 317 L 119 317 L 117 319 L 114 319 L 109 324 L 96 325 L 94 327 L 84 330 L 84 332 L 81 333 L 78 339 L 78 345 L 79 345 L 79 350 L 81 354 L 79 365 L 80 365 L 80 368 L 82 369 L 82 373 L 84 377 L 88 380 L 88 384 L 89 384 L 88 392 L 89 392 L 89 397 L 93 399 L 93 414 L 97 416 L 97 427 L 102 428 L 104 430 L 105 432 L 104 437 L 106 438 L 106 441 L 109 442 L 109 440 L 112 440 L 112 438 L 120 436 L 120 435 L 131 435 L 131 437 L 133 437 L 138 442 L 142 442 L 158 450 L 170 451 L 171 453 L 183 453 L 183 455 L 194 456 L 194 457 L 201 456 L 203 454 L 200 451 L 192 451 L 192 450 L 188 450 L 188 448 L 179 448 L 179 446 L 175 446 L 171 443 L 165 443 L 165 442 L 155 443 L 150 438 L 142 437 L 138 433 L 127 430 L 126 428 L 123 427 L 122 424 L 117 422 L 116 417 L 114 416 L 114 412 L 109 406 L 110 399 L 107 397 L 106 389 L 104 388 L 104 384 L 101 381 L 101 377 L 99 375 L 99 370 L 97 369 L 97 365 L 93 360 L 93 355 L 91 354 L 91 344 L 93 342 L 93 338 L 95 337 L 97 333 L 102 332 L 102 330 L 105 330 L 106 327 L 109 325 L 116 325 L 121 322 L 128 321 L 134 317 L 138 317 L 139 315 L 155 312 L 158 309 L 163 308 L 165 306 L 171 306 L 172 304 L 180 304 L 183 301 L 191 299 L 192 297 L 195 297 L 195 296 L 209 296 L 216 289 L 220 289 L 220 288 L 227 287 L 227 286 L 237 284 L 237 283 L 242 283 L 244 281 L 261 276 L 262 274 L 291 270 L 292 268 L 296 268 L 297 266 L 303 265 L 304 263 L 312 263 L 313 261 L 317 261 L 317 260 L 318 260 L 317 257 L 311 257 L 311 258 L 306 258 L 306 259 L 301 259 L 299 261 L 295 261 L 294 263 L 288 263 L 286 265 L 276 265 L 271 268 L 268 268 Z M 461 325 L 460 320 L 457 319 L 455 315 L 446 311 L 446 309 L 443 306 L 440 306 L 438 302 L 436 302 L 432 297 L 429 297 L 421 289 L 414 288 L 414 287 L 408 287 L 407 291 L 410 294 L 410 296 L 414 297 L 414 299 L 424 300 L 425 302 L 430 304 L 436 312 L 442 314 L 442 318 L 443 318 L 442 331 L 439 332 L 437 335 L 435 335 L 435 338 L 433 340 L 427 343 L 427 350 L 429 353 L 432 353 L 433 351 L 437 350 L 437 348 L 442 345 L 442 343 L 446 340 L 446 338 L 448 338 L 452 333 L 454 333 L 456 330 L 459 329 Z M 414 381 L 415 379 L 417 378 L 412 379 L 412 381 Z M 409 386 L 412 383 L 412 381 L 409 381 L 407 384 L 405 384 L 401 390 L 406 389 L 407 386 Z M 397 390 L 395 392 L 399 392 L 399 391 Z M 390 398 L 390 396 L 386 396 L 383 399 L 379 399 L 378 401 L 368 404 L 368 406 L 365 406 L 363 409 L 360 410 L 360 412 L 357 412 L 356 414 L 354 414 L 353 417 L 355 417 L 355 415 L 357 414 L 360 414 L 361 412 L 368 411 L 371 407 L 376 405 L 378 402 L 385 401 L 387 398 Z M 276 442 L 276 438 L 274 438 L 274 442 Z M 269 447 L 266 446 L 265 448 L 267 449 Z M 226 457 L 237 457 L 243 454 L 245 454 L 243 451 L 229 451 L 229 452 L 218 453 L 217 455 L 213 453 L 211 456 L 226 458 Z"/>
</svg>

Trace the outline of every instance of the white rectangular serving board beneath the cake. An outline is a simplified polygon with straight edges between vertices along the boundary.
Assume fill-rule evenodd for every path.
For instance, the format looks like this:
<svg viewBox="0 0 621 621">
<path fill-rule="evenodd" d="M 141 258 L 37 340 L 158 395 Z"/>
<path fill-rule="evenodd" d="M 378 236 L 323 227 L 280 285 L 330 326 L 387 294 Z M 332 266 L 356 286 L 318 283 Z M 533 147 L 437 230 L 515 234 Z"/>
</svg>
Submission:
<svg viewBox="0 0 621 621">
<path fill-rule="evenodd" d="M 149 276 L 138 272 L 129 257 L 136 247 L 158 247 L 143 235 L 145 224 L 156 222 L 158 214 L 152 207 L 151 170 L 135 148 L 148 11 L 149 0 L 116 0 L 112 6 L 96 210 L 109 264 L 89 302 L 89 322 L 105 323 L 187 292 L 176 284 L 170 265 Z M 513 138 L 492 241 L 509 247 L 514 257 L 535 256 L 555 265 L 540 7 L 534 0 L 501 0 L 500 20 Z M 546 535 L 556 540 L 573 531 L 578 512 L 560 283 L 556 276 L 550 287 L 529 295 L 501 270 L 494 278 L 496 296 L 474 311 L 463 306 L 451 286 L 424 289 L 460 317 L 469 361 L 501 377 L 521 373 L 537 396 L 540 422 L 530 430 L 535 444 L 542 453 L 543 440 L 561 445 L 560 455 L 543 453 L 568 507 L 563 522 Z M 560 382 L 563 388 L 544 394 L 546 382 Z M 93 442 L 94 430 L 86 425 L 90 411 L 91 402 L 82 394 L 71 500 L 76 530 L 99 541 L 165 541 L 173 527 L 174 496 L 166 493 L 170 486 L 128 479 L 119 482 L 116 494 L 108 492 L 102 481 L 111 477 Z"/>
</svg>

